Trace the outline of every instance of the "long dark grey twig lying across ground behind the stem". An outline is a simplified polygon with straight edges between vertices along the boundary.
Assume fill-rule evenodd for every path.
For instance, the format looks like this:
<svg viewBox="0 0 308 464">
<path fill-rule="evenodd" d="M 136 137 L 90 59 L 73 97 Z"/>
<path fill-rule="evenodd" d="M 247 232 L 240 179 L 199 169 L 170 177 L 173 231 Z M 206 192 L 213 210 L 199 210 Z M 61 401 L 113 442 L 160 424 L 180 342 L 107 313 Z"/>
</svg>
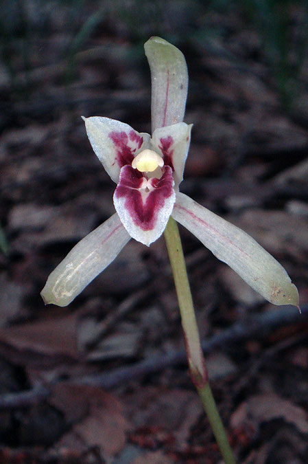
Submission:
<svg viewBox="0 0 308 464">
<path fill-rule="evenodd" d="M 224 349 L 224 346 L 232 343 L 244 342 L 250 338 L 262 340 L 267 338 L 270 333 L 279 327 L 289 324 L 303 324 L 308 322 L 308 305 L 303 306 L 301 315 L 294 307 L 281 307 L 265 314 L 249 316 L 246 320 L 241 320 L 233 324 L 232 327 L 213 335 L 209 340 L 204 340 L 202 348 L 204 354 L 208 354 L 215 349 Z M 88 375 L 76 379 L 66 380 L 67 384 L 75 385 L 96 385 L 105 389 L 119 386 L 124 381 L 140 379 L 145 375 L 154 374 L 163 369 L 178 364 L 186 364 L 185 349 L 174 350 L 165 355 L 151 356 L 150 359 L 138 362 L 132 366 L 117 368 L 108 373 Z M 56 381 L 51 384 L 64 383 Z M 19 393 L 7 393 L 0 395 L 0 410 L 25 408 L 37 404 L 49 397 L 50 391 L 44 386 L 39 386 L 33 390 L 22 391 Z"/>
</svg>

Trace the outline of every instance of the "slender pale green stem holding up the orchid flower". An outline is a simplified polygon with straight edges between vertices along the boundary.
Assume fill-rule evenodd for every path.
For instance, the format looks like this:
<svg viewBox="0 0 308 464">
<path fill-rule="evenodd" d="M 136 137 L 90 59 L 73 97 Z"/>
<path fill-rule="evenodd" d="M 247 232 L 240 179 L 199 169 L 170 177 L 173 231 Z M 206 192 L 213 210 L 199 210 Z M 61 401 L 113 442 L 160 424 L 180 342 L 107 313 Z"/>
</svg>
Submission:
<svg viewBox="0 0 308 464">
<path fill-rule="evenodd" d="M 225 463 L 235 464 L 233 451 L 209 385 L 178 225 L 171 217 L 165 228 L 165 240 L 178 295 L 191 379 L 196 385 Z"/>
</svg>

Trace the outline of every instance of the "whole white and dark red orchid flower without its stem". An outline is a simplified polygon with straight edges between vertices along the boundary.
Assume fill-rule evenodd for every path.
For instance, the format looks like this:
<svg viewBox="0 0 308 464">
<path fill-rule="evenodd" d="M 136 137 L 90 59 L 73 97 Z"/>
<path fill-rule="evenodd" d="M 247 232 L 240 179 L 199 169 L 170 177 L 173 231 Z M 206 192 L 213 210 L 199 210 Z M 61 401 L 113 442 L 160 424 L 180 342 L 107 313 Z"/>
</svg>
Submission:
<svg viewBox="0 0 308 464">
<path fill-rule="evenodd" d="M 150 38 L 145 54 L 152 75 L 152 137 L 110 118 L 84 118 L 93 150 L 117 184 L 116 212 L 51 272 L 41 292 L 45 304 L 69 305 L 131 238 L 149 246 L 171 216 L 268 301 L 298 306 L 295 285 L 261 245 L 179 191 L 192 127 L 182 122 L 187 66 L 182 53 L 162 38 Z"/>
</svg>

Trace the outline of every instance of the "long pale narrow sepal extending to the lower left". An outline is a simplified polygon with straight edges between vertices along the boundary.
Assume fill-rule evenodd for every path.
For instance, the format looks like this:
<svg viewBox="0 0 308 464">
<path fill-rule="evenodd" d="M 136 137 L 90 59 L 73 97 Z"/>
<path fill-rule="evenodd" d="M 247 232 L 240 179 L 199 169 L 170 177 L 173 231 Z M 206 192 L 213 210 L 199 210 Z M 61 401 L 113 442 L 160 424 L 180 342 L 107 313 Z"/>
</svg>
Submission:
<svg viewBox="0 0 308 464">
<path fill-rule="evenodd" d="M 130 240 L 117 213 L 84 237 L 51 272 L 40 292 L 45 304 L 67 306 L 110 265 Z"/>
</svg>

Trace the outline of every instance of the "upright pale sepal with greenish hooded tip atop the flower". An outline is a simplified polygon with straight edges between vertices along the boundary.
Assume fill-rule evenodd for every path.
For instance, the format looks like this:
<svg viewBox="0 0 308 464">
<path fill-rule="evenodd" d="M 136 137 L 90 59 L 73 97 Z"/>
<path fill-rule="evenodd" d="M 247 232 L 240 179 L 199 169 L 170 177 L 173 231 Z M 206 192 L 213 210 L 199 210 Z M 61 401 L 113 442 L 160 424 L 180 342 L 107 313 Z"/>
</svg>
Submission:
<svg viewBox="0 0 308 464">
<path fill-rule="evenodd" d="M 151 37 L 144 45 L 152 78 L 152 132 L 182 122 L 188 88 L 184 55 L 163 38 Z"/>
</svg>

